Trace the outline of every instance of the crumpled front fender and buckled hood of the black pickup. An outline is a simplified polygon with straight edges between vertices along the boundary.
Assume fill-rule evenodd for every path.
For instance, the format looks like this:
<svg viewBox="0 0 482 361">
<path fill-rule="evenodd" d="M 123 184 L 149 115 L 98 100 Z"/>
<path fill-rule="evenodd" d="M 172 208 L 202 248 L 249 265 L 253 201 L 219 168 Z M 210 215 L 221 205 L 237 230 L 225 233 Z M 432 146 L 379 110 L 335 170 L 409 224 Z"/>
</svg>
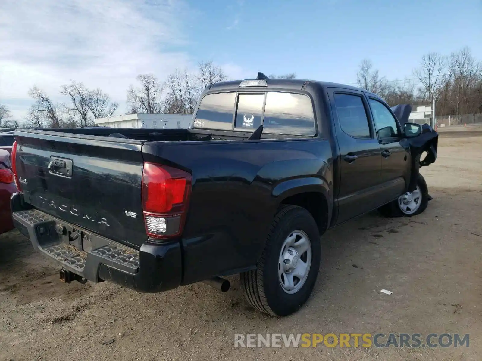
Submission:
<svg viewBox="0 0 482 361">
<path fill-rule="evenodd" d="M 412 111 L 410 104 L 396 105 L 392 108 L 393 113 L 397 116 L 402 129 L 405 123 L 408 123 L 408 117 Z M 422 125 L 422 132 L 416 137 L 403 138 L 400 144 L 410 153 L 412 157 L 412 169 L 408 192 L 412 192 L 416 188 L 420 167 L 429 166 L 437 159 L 437 147 L 439 134 L 428 124 Z M 427 155 L 421 160 L 424 152 Z"/>
</svg>

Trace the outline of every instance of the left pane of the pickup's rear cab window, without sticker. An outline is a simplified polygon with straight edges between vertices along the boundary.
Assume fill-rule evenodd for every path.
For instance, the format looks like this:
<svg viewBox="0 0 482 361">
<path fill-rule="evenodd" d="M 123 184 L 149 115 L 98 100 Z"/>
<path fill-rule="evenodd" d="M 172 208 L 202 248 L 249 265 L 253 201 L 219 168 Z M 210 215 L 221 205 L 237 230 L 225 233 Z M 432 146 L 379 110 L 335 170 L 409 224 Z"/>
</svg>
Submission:
<svg viewBox="0 0 482 361">
<path fill-rule="evenodd" d="M 232 129 L 236 93 L 207 94 L 199 104 L 194 128 Z"/>
</svg>

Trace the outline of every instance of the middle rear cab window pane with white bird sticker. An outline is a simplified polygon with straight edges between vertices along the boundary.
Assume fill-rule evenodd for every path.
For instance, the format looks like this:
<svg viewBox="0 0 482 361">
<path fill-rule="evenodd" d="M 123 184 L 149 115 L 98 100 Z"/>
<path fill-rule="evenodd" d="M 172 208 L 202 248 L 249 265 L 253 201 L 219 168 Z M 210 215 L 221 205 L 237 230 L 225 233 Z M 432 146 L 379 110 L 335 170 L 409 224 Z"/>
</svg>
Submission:
<svg viewBox="0 0 482 361">
<path fill-rule="evenodd" d="M 236 112 L 236 129 L 254 130 L 261 124 L 265 94 L 240 94 Z"/>
</svg>

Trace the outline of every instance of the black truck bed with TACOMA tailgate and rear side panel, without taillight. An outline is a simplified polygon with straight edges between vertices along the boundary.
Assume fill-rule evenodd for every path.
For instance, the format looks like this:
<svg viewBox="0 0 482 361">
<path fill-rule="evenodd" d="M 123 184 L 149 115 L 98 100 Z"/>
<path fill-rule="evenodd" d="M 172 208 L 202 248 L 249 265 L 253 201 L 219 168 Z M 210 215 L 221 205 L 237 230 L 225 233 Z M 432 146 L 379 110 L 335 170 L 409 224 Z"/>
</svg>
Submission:
<svg viewBox="0 0 482 361">
<path fill-rule="evenodd" d="M 127 138 L 109 137 L 113 132 Z M 23 202 L 45 217 L 65 222 L 72 234 L 83 232 L 91 239 L 101 237 L 139 251 L 142 261 L 142 247 L 160 242 L 147 234 L 143 217 L 146 164 L 179 169 L 191 177 L 182 235 L 170 240 L 182 249 L 182 283 L 252 269 L 278 197 L 289 196 L 290 189 L 300 186 L 307 192 L 321 188 L 332 202 L 333 159 L 325 139 L 248 140 L 249 134 L 204 129 L 17 129 L 16 171 Z M 62 163 L 60 169 L 56 160 Z M 62 173 L 68 167 L 71 173 Z M 70 233 L 73 244 L 77 241 Z M 81 241 L 81 249 L 95 248 L 89 239 Z"/>
</svg>

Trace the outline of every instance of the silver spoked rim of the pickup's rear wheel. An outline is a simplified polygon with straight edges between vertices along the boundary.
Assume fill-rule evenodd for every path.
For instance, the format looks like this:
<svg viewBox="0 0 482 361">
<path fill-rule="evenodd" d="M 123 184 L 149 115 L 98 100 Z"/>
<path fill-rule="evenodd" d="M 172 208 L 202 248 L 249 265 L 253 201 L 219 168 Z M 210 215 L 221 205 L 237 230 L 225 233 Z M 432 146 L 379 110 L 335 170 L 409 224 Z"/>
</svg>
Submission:
<svg viewBox="0 0 482 361">
<path fill-rule="evenodd" d="M 311 265 L 311 242 L 308 235 L 297 230 L 285 239 L 278 261 L 278 279 L 284 292 L 300 290 L 308 278 Z"/>
</svg>

